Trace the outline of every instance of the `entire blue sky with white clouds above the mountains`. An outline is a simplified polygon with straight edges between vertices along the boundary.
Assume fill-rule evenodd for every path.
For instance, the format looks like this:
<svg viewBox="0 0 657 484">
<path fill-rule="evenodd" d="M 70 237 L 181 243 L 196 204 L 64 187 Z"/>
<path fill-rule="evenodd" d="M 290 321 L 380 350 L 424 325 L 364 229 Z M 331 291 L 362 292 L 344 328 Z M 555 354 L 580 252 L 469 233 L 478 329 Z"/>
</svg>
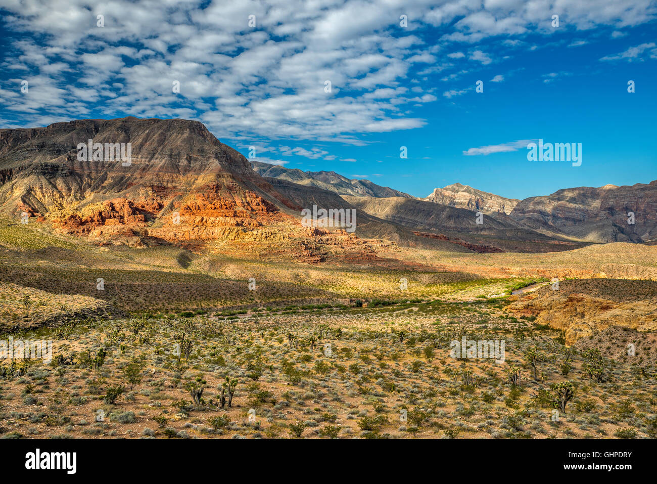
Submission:
<svg viewBox="0 0 657 484">
<path fill-rule="evenodd" d="M 195 119 L 256 160 L 422 197 L 456 182 L 522 199 L 657 179 L 656 1 L 0 6 L 1 128 Z M 539 138 L 581 143 L 581 166 L 528 161 Z"/>
</svg>

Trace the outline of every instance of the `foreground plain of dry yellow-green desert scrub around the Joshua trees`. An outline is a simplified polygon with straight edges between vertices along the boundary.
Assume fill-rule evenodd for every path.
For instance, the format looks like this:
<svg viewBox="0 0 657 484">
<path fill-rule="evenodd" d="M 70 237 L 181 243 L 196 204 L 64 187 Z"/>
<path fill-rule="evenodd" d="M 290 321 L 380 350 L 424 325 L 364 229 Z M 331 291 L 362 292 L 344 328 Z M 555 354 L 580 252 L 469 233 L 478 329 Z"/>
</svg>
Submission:
<svg viewBox="0 0 657 484">
<path fill-rule="evenodd" d="M 291 438 L 295 429 L 306 438 L 610 438 L 619 429 L 654 437 L 654 367 L 604 358 L 599 383 L 576 353 L 562 375 L 558 331 L 501 306 L 434 301 L 97 320 L 55 341 L 55 355 L 70 362 L 32 360 L 26 374 L 3 379 L 0 426 L 10 437 Z M 55 338 L 51 331 L 25 339 Z M 184 343 L 181 356 L 175 346 L 183 334 L 187 357 Z M 505 362 L 451 358 L 450 342 L 462 335 L 504 340 Z M 533 347 L 544 355 L 538 381 L 523 368 Z M 107 356 L 90 368 L 101 348 Z M 140 380 L 133 388 L 129 364 Z M 512 366 L 520 368 L 517 388 L 506 375 Z M 474 385 L 464 382 L 467 370 Z M 196 377 L 204 381 L 198 408 L 189 392 Z M 225 377 L 237 391 L 233 408 L 222 409 Z M 575 397 L 554 422 L 551 385 L 566 379 Z M 103 399 L 115 385 L 124 392 L 110 404 Z"/>
</svg>

